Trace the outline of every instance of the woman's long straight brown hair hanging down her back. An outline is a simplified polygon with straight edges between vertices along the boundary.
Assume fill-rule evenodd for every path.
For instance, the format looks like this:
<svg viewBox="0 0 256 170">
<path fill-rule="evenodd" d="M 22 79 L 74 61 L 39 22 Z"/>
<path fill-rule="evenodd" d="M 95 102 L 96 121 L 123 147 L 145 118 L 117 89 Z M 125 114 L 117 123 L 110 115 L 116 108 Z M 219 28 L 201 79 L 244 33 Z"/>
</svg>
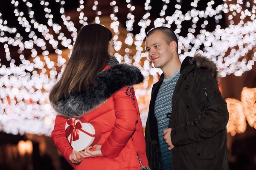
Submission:
<svg viewBox="0 0 256 170">
<path fill-rule="evenodd" d="M 108 45 L 112 37 L 111 31 L 100 24 L 81 28 L 62 77 L 49 94 L 51 103 L 67 97 L 73 90 L 93 85 L 96 75 L 110 59 Z"/>
</svg>

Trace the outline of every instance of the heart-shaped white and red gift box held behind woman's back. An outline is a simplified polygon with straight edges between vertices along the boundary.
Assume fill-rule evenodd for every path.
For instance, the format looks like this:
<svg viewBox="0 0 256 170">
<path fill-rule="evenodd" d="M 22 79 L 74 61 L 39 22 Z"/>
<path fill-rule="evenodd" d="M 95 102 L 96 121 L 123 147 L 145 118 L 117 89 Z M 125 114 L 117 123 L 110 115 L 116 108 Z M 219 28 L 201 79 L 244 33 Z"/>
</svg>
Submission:
<svg viewBox="0 0 256 170">
<path fill-rule="evenodd" d="M 101 130 L 96 122 L 86 122 L 84 119 L 68 119 L 66 137 L 71 147 L 78 152 L 99 142 Z"/>
</svg>

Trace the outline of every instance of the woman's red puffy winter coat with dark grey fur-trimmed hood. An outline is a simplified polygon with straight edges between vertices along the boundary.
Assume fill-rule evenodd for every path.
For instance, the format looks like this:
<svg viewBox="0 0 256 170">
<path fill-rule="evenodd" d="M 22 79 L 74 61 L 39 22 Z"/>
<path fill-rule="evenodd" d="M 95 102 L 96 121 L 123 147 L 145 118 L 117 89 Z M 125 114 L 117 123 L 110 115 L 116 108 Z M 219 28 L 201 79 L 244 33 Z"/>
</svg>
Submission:
<svg viewBox="0 0 256 170">
<path fill-rule="evenodd" d="M 76 170 L 139 170 L 137 153 L 148 166 L 145 138 L 132 85 L 143 82 L 140 70 L 127 65 L 106 66 L 94 86 L 81 92 L 73 91 L 66 99 L 53 104 L 58 115 L 52 139 L 58 150 Z M 101 125 L 98 144 L 104 156 L 85 158 L 77 165 L 69 161 L 73 148 L 65 136 L 68 118 L 83 117 Z"/>
</svg>

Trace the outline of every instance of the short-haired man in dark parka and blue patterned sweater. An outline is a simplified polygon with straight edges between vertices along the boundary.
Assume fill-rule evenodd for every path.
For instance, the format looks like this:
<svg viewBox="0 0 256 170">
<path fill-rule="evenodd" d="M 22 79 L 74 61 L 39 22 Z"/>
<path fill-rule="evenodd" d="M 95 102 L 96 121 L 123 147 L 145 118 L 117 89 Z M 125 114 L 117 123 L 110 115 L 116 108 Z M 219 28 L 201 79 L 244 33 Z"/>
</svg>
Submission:
<svg viewBox="0 0 256 170">
<path fill-rule="evenodd" d="M 146 50 L 163 71 L 145 129 L 151 170 L 228 170 L 229 115 L 215 63 L 196 54 L 181 64 L 177 37 L 166 27 L 148 32 Z"/>
</svg>

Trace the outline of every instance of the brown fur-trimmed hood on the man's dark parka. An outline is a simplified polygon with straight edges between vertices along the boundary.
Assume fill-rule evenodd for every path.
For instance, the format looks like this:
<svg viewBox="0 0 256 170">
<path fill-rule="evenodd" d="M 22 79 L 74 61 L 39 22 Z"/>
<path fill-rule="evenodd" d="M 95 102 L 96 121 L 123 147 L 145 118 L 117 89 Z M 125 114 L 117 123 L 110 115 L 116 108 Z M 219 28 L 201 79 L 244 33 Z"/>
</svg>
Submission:
<svg viewBox="0 0 256 170">
<path fill-rule="evenodd" d="M 197 69 L 209 71 L 212 77 L 218 82 L 218 67 L 217 65 L 207 57 L 201 54 L 195 54 L 194 57 L 186 57 L 181 65 L 180 72 L 185 70 L 189 65 L 195 65 Z"/>
</svg>

